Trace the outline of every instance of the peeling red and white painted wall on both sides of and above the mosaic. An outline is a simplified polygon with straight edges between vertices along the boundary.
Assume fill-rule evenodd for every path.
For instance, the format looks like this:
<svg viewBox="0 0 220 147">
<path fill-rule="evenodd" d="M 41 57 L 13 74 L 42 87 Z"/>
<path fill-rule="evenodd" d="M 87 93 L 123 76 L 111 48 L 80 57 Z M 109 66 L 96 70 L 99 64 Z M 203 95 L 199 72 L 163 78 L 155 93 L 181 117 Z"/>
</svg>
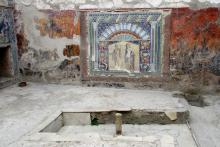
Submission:
<svg viewBox="0 0 220 147">
<path fill-rule="evenodd" d="M 220 39 L 219 0 L 15 0 L 15 2 L 17 35 L 21 40 L 19 41 L 20 67 L 23 75 L 30 75 L 32 80 L 71 83 L 79 81 L 78 45 L 80 36 L 76 30 L 80 27 L 77 13 L 80 9 L 172 8 L 171 28 L 168 29 L 171 32 L 171 72 L 168 75 L 170 80 L 178 82 L 180 85 L 219 86 L 217 65 L 218 40 Z M 185 7 L 190 9 L 185 9 Z M 60 30 L 56 25 L 51 25 L 56 24 L 56 21 L 54 22 L 51 18 L 51 13 L 57 15 L 58 20 L 61 20 L 65 12 L 72 13 L 73 19 L 71 19 L 72 24 L 69 25 L 71 28 L 69 32 L 73 33 L 57 35 Z M 205 23 L 205 20 L 209 20 L 211 25 Z M 68 24 L 69 21 L 70 18 L 63 19 L 58 21 L 58 24 L 62 24 L 62 22 Z M 192 23 L 190 23 L 191 21 Z M 201 30 L 196 30 L 197 22 Z M 48 26 L 52 28 L 52 31 L 47 28 Z M 205 30 L 205 28 L 207 29 Z M 215 33 L 210 36 L 210 31 Z M 191 34 L 190 37 L 187 37 L 190 32 L 195 32 L 197 36 Z M 178 35 L 179 40 L 177 40 Z M 205 42 L 202 37 L 204 35 L 208 35 Z M 68 48 L 73 49 L 69 51 Z M 208 48 L 208 59 L 204 58 L 200 61 L 188 54 L 189 50 L 191 52 L 196 50 L 194 54 L 197 54 L 202 48 L 205 50 Z M 199 64 L 197 64 L 198 62 Z M 204 68 L 197 68 L 198 65 L 200 66 L 200 62 L 204 62 L 204 66 L 202 64 Z M 190 67 L 186 65 L 190 65 Z M 188 70 L 188 68 L 193 70 Z M 196 75 L 203 78 L 195 79 Z M 211 82 L 207 83 L 205 79 L 210 78 Z"/>
</svg>

